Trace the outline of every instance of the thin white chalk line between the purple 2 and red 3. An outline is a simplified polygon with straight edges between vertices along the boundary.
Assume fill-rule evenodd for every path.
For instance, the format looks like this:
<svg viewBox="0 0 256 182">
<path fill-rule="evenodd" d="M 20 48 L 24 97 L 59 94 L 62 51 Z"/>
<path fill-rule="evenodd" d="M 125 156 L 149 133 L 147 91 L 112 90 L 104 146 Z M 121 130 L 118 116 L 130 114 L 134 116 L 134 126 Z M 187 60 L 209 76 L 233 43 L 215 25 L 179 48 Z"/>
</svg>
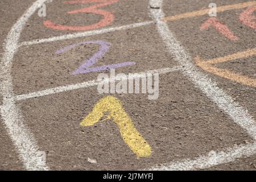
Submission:
<svg viewBox="0 0 256 182">
<path fill-rule="evenodd" d="M 152 24 L 152 23 L 154 23 L 154 21 L 151 20 L 151 21 L 147 21 L 147 22 L 127 24 L 125 26 L 119 26 L 119 27 L 102 28 L 100 30 L 77 32 L 75 34 L 55 36 L 55 37 L 46 38 L 46 39 L 36 39 L 36 40 L 28 41 L 28 42 L 22 42 L 22 43 L 20 43 L 19 46 L 31 46 L 31 45 L 34 45 L 34 44 L 55 42 L 55 41 L 58 41 L 58 40 L 67 40 L 67 39 L 75 39 L 75 38 L 81 38 L 81 37 L 92 36 L 92 35 L 106 34 L 106 33 L 114 32 L 114 31 L 128 30 L 128 29 L 131 29 L 131 28 L 147 26 L 148 24 Z"/>
</svg>

